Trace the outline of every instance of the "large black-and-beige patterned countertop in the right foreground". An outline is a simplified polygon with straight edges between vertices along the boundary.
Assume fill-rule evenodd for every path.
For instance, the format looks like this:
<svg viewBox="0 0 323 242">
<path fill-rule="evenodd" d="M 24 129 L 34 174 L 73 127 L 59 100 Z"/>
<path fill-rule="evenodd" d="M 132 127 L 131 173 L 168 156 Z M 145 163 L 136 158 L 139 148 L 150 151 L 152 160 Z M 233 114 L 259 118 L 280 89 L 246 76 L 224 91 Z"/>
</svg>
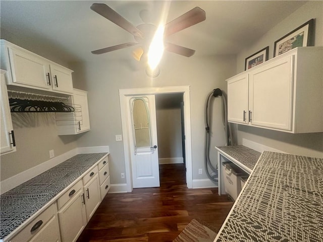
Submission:
<svg viewBox="0 0 323 242">
<path fill-rule="evenodd" d="M 323 159 L 264 151 L 214 241 L 323 241 Z"/>
</svg>

